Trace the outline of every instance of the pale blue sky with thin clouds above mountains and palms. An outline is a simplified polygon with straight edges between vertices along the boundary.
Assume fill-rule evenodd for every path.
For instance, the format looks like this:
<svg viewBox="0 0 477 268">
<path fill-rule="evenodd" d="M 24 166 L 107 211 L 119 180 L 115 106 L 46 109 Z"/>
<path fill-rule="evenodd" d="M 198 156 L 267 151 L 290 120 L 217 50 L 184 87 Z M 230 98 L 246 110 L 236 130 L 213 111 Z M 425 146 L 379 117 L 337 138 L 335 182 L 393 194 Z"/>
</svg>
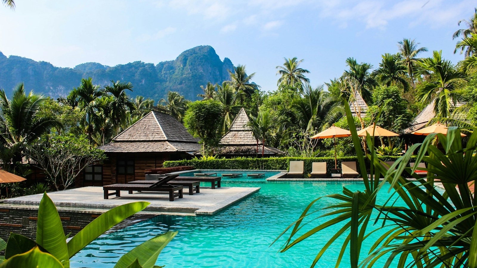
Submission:
<svg viewBox="0 0 477 268">
<path fill-rule="evenodd" d="M 397 41 L 416 38 L 456 63 L 452 33 L 472 0 L 16 0 L 0 8 L 0 51 L 59 67 L 83 62 L 161 62 L 197 45 L 246 64 L 263 90 L 276 89 L 283 57 L 304 59 L 313 86 L 344 61 L 377 66 Z"/>
</svg>

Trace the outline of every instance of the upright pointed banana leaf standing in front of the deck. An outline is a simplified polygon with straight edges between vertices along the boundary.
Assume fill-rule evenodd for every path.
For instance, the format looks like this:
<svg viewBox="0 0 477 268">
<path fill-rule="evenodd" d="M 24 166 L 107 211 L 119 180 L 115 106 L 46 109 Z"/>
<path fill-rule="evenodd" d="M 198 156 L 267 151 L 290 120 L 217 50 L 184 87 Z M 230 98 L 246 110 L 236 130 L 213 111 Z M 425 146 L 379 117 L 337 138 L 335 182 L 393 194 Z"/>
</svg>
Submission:
<svg viewBox="0 0 477 268">
<path fill-rule="evenodd" d="M 64 231 L 60 215 L 48 195 L 43 194 L 38 208 L 36 243 L 57 258 L 65 268 L 70 267 L 68 247 L 64 239 Z"/>
</svg>

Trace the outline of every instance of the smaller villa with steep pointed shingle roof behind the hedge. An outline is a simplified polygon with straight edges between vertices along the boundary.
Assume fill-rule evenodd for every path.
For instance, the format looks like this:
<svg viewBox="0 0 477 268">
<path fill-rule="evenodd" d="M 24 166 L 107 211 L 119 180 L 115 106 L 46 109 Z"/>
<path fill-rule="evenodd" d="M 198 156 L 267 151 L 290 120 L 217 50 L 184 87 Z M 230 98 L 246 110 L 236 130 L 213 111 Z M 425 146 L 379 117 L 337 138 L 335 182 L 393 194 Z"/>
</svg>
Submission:
<svg viewBox="0 0 477 268">
<path fill-rule="evenodd" d="M 219 146 L 214 149 L 214 154 L 232 157 L 232 156 L 257 156 L 262 155 L 262 141 L 258 141 L 259 149 L 257 154 L 257 139 L 246 124 L 250 121 L 245 109 L 240 109 L 230 125 L 230 129 L 219 142 Z M 285 152 L 265 145 L 264 156 L 284 155 Z"/>
</svg>

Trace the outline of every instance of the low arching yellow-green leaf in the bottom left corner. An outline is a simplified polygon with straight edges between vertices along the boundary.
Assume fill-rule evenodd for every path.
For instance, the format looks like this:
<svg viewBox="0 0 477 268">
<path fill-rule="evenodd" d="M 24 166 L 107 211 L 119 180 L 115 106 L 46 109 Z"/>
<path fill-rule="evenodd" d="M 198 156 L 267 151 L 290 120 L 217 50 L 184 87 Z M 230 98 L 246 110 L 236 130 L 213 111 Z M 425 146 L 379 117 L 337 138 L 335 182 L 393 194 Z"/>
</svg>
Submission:
<svg viewBox="0 0 477 268">
<path fill-rule="evenodd" d="M 63 268 L 61 262 L 38 247 L 7 259 L 1 268 Z"/>
</svg>

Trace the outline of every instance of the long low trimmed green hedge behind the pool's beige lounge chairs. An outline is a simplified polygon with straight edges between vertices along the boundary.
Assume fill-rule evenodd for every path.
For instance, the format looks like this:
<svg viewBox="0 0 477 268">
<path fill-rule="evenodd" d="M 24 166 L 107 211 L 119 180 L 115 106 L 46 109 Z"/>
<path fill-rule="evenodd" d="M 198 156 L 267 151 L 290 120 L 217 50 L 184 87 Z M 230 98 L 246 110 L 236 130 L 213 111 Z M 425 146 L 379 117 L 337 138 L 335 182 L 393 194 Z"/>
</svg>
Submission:
<svg viewBox="0 0 477 268">
<path fill-rule="evenodd" d="M 395 161 L 400 156 L 381 156 L 383 161 Z M 338 168 L 341 162 L 357 161 L 356 156 L 338 157 Z M 303 161 L 304 173 L 311 173 L 311 163 L 326 162 L 328 170 L 334 168 L 334 157 L 269 157 L 269 158 L 229 158 L 214 160 L 178 160 L 165 161 L 164 167 L 173 167 L 179 165 L 193 165 L 197 169 L 265 169 L 265 170 L 288 170 L 290 161 Z M 369 167 L 369 160 L 366 158 L 366 166 Z M 359 165 L 358 167 L 359 172 Z"/>
</svg>

